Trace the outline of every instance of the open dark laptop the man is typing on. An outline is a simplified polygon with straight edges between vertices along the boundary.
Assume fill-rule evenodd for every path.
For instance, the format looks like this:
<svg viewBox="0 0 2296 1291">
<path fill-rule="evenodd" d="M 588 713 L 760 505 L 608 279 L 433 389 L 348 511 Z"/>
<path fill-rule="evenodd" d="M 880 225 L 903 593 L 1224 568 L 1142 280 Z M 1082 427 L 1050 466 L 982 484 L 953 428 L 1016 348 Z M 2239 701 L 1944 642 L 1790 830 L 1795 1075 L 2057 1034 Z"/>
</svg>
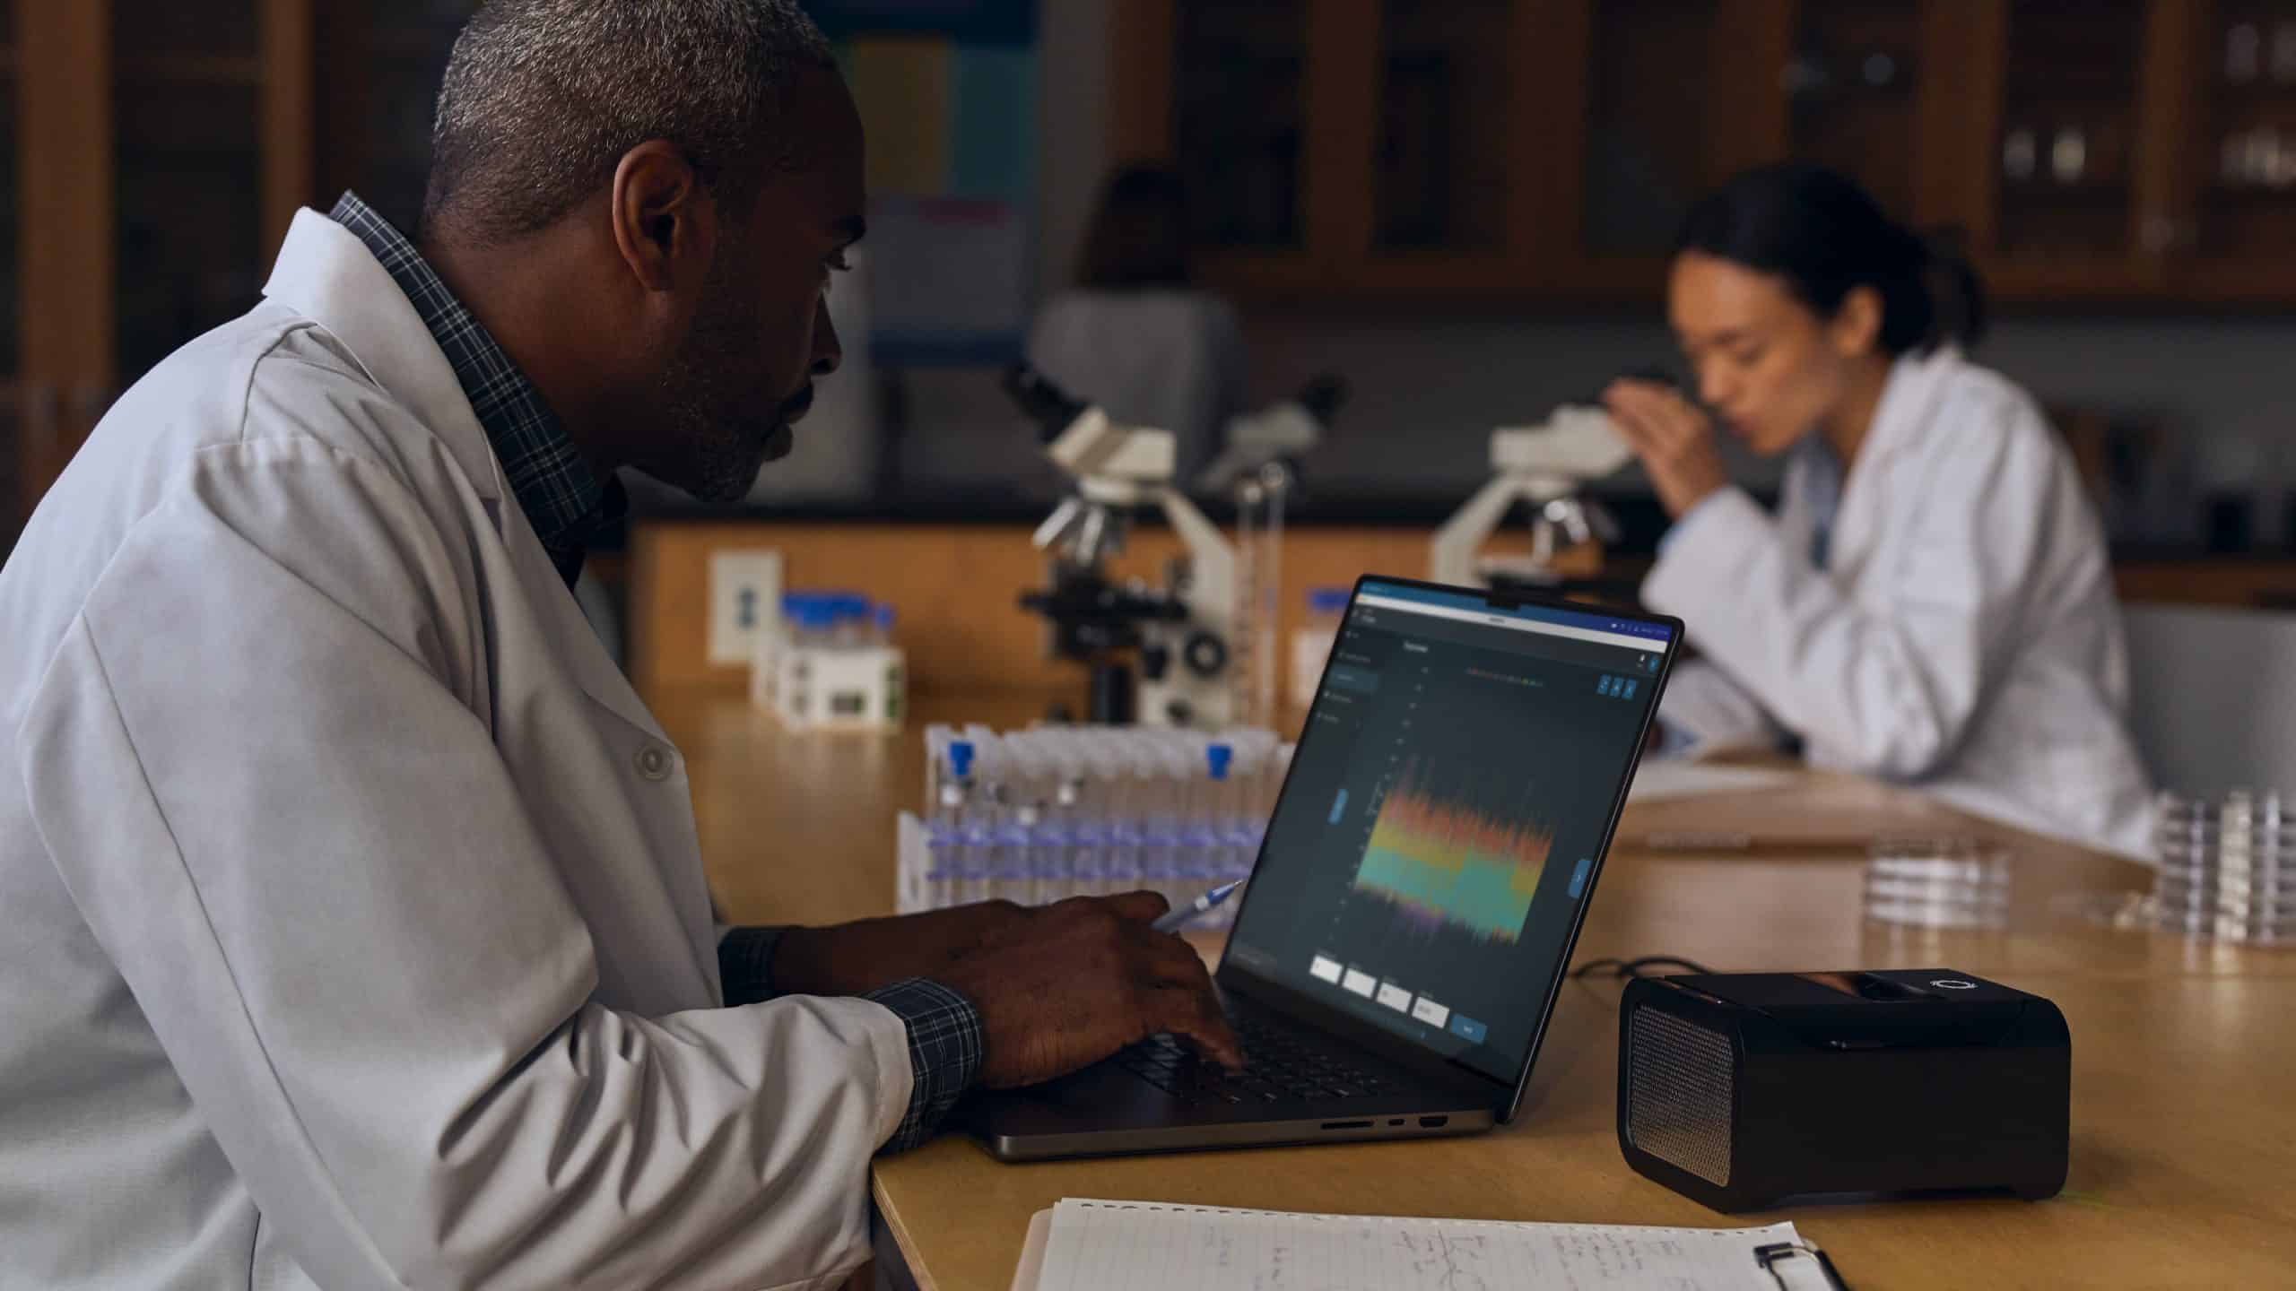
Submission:
<svg viewBox="0 0 2296 1291">
<path fill-rule="evenodd" d="M 1153 1036 L 962 1123 L 1047 1160 L 1511 1121 L 1681 641 L 1674 618 L 1357 581 L 1212 976 L 1247 1070 Z"/>
</svg>

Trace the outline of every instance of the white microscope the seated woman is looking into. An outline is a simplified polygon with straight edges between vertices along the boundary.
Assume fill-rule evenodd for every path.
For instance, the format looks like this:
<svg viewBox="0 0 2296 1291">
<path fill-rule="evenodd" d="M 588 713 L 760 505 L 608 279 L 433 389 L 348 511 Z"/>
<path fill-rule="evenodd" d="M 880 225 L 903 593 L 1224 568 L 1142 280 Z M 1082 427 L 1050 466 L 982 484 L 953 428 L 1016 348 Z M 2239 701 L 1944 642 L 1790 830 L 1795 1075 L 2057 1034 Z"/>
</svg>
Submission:
<svg viewBox="0 0 2296 1291">
<path fill-rule="evenodd" d="M 1435 531 L 1430 579 L 1453 586 L 1564 590 L 1557 554 L 1616 542 L 1619 524 L 1587 494 L 1635 457 L 1593 404 L 1564 404 L 1543 425 L 1490 434 L 1492 480 Z M 1529 558 L 1479 558 L 1518 501 L 1531 508 Z"/>
</svg>

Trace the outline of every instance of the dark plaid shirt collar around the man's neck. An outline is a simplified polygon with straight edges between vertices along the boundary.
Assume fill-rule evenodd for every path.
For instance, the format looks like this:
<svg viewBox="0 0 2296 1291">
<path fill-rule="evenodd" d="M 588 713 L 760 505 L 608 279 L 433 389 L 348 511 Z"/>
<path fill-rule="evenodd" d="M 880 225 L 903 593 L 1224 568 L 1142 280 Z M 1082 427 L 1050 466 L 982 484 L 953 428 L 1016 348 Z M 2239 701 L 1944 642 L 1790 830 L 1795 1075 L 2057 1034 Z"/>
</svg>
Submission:
<svg viewBox="0 0 2296 1291">
<path fill-rule="evenodd" d="M 374 260 L 381 262 L 390 280 L 406 292 L 432 340 L 445 351 L 445 361 L 461 381 L 461 393 L 478 413 L 478 425 L 487 432 L 487 443 L 503 462 L 503 478 L 510 480 L 519 510 L 542 538 L 542 549 L 551 554 L 558 577 L 574 586 L 581 577 L 583 551 L 590 540 L 613 521 L 622 519 L 629 498 L 622 482 L 606 478 L 602 485 L 590 464 L 574 450 L 565 423 L 542 402 L 542 391 L 519 372 L 510 354 L 487 333 L 471 310 L 455 299 L 455 292 L 422 260 L 416 243 L 395 230 L 390 221 L 374 214 L 356 193 L 344 193 L 331 218 L 358 234 Z"/>
</svg>

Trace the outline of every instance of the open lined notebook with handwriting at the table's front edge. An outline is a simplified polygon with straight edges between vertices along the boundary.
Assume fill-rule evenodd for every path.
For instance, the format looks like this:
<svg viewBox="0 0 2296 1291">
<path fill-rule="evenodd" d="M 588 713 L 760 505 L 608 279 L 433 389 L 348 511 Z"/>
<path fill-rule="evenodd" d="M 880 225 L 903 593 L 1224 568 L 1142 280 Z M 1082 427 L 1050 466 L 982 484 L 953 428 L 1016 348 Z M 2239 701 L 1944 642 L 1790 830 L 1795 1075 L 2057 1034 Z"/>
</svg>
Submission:
<svg viewBox="0 0 2296 1291">
<path fill-rule="evenodd" d="M 1651 1229 L 1063 1199 L 1013 1291 L 1846 1291 L 1793 1224 Z"/>
</svg>

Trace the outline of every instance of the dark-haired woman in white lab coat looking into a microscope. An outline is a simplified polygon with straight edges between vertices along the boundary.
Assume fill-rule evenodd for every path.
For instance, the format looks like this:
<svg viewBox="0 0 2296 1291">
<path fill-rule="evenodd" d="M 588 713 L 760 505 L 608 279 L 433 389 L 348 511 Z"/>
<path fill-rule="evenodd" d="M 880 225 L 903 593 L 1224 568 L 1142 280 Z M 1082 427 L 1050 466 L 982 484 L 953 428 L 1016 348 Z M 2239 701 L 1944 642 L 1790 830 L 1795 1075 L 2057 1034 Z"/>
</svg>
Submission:
<svg viewBox="0 0 2296 1291">
<path fill-rule="evenodd" d="M 1674 744 L 1812 765 L 2140 857 L 2149 786 L 2103 531 L 2032 397 L 1961 356 L 1975 271 L 1809 165 L 1731 179 L 1667 289 L 1699 404 L 1605 393 L 1674 517 L 1642 593 L 1704 662 Z M 1717 423 L 1786 455 L 1777 512 L 1722 473 Z"/>
</svg>

